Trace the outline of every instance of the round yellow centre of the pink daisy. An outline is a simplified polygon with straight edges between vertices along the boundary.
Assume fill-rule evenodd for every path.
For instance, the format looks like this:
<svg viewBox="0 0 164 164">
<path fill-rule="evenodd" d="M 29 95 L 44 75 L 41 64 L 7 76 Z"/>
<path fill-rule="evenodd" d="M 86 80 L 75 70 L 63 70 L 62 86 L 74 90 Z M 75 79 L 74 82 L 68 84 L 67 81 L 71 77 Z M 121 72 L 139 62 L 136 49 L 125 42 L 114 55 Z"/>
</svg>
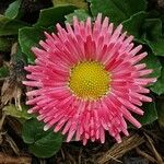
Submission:
<svg viewBox="0 0 164 164">
<path fill-rule="evenodd" d="M 109 91 L 110 74 L 96 61 L 83 61 L 71 69 L 69 87 L 80 98 L 97 99 Z"/>
</svg>

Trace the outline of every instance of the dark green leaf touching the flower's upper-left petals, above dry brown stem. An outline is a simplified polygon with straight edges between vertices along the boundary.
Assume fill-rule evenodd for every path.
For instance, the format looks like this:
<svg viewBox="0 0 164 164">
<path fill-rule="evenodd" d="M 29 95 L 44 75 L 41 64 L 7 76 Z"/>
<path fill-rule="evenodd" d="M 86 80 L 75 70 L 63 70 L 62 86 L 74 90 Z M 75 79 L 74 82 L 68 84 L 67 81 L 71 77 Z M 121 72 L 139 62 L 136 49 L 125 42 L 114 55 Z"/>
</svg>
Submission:
<svg viewBox="0 0 164 164">
<path fill-rule="evenodd" d="M 36 27 L 24 27 L 19 31 L 19 43 L 22 52 L 26 55 L 27 63 L 34 63 L 34 54 L 31 48 L 38 46 L 38 42 L 44 37 L 43 30 Z"/>
</svg>

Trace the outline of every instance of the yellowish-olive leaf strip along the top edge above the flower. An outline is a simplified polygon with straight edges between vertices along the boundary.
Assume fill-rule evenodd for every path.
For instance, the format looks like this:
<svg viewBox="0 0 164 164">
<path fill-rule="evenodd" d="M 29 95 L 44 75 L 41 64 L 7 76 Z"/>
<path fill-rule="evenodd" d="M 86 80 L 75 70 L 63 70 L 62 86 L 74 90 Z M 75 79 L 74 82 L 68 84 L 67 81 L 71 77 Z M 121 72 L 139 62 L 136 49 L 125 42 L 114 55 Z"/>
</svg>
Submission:
<svg viewBox="0 0 164 164">
<path fill-rule="evenodd" d="M 54 5 L 61 5 L 61 4 L 73 4 L 81 9 L 86 9 L 87 3 L 85 0 L 52 0 Z"/>
</svg>

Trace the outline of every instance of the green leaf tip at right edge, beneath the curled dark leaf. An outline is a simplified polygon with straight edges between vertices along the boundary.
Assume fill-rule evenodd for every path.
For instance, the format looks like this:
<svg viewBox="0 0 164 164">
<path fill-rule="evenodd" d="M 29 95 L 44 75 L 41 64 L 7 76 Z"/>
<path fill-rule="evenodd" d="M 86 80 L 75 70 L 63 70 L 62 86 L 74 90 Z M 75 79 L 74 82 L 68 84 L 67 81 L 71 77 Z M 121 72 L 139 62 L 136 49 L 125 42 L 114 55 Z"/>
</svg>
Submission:
<svg viewBox="0 0 164 164">
<path fill-rule="evenodd" d="M 159 37 L 157 40 L 149 40 L 145 36 L 145 40 L 155 56 L 164 56 L 164 36 Z"/>
</svg>

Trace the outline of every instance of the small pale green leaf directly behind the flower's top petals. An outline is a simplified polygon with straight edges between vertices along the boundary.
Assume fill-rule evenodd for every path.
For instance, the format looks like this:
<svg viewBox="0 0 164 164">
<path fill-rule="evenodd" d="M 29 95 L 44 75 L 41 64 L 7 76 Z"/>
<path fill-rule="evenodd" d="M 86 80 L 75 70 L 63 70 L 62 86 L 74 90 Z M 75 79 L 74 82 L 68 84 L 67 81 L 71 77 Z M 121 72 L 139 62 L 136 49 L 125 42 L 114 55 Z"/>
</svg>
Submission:
<svg viewBox="0 0 164 164">
<path fill-rule="evenodd" d="M 68 14 L 65 17 L 66 17 L 67 22 L 72 24 L 73 16 L 77 16 L 79 21 L 85 21 L 87 19 L 87 16 L 90 16 L 90 15 L 85 10 L 79 9 L 79 10 L 74 10 L 73 13 Z"/>
</svg>

